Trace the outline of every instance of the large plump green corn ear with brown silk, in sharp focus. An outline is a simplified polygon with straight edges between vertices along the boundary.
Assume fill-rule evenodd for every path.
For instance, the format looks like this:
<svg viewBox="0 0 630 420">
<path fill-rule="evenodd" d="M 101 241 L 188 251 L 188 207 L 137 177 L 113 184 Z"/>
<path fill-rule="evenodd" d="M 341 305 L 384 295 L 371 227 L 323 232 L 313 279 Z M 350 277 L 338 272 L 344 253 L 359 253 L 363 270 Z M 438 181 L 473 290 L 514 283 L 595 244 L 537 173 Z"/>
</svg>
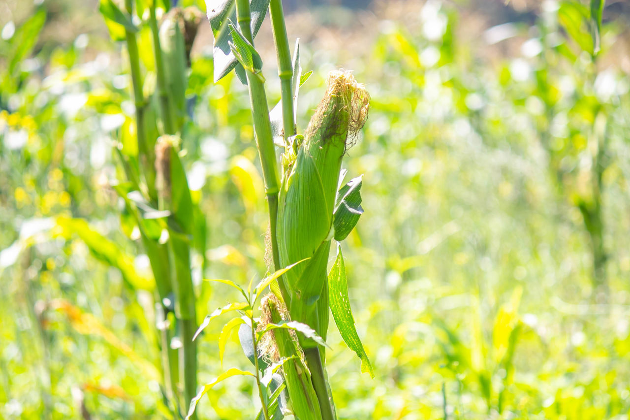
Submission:
<svg viewBox="0 0 630 420">
<path fill-rule="evenodd" d="M 368 105 L 367 91 L 352 74 L 331 72 L 297 156 L 285 162 L 277 225 L 280 266 L 311 258 L 282 277 L 290 295 L 287 306 L 292 319 L 310 325 L 324 339 L 328 329 L 326 265 L 334 236 L 341 158 L 364 125 Z M 316 346 L 308 339 L 301 344 Z"/>
</svg>

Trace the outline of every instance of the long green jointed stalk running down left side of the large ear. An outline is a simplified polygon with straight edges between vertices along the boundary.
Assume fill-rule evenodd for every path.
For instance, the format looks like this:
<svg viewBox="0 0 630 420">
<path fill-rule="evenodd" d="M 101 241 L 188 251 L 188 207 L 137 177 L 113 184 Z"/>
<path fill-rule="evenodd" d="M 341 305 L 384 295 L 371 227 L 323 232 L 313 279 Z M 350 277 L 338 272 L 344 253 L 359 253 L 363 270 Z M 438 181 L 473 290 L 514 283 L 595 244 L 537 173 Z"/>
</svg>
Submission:
<svg viewBox="0 0 630 420">
<path fill-rule="evenodd" d="M 238 21 L 241 33 L 252 45 L 254 38 L 251 35 L 251 14 L 248 0 L 236 1 L 236 20 Z M 265 194 L 267 206 L 269 207 L 270 236 L 272 243 L 272 255 L 274 269 L 280 269 L 280 254 L 278 253 L 278 241 L 275 226 L 278 214 L 278 168 L 276 162 L 275 146 L 273 144 L 272 126 L 269 120 L 269 107 L 263 82 L 254 74 L 247 73 L 249 87 L 249 101 L 254 119 L 254 132 L 258 145 L 261 165 L 263 166 L 263 181 L 265 182 Z M 289 299 L 289 294 L 282 282 L 278 282 L 282 297 L 285 301 Z"/>
</svg>

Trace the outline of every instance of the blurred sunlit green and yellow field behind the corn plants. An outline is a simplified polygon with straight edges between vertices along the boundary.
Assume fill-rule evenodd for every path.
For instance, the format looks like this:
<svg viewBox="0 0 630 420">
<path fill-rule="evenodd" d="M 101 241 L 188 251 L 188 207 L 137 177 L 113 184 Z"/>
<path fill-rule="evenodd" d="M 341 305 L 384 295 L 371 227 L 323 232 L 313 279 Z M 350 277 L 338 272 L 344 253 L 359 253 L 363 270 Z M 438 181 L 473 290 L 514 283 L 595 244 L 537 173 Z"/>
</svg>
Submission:
<svg viewBox="0 0 630 420">
<path fill-rule="evenodd" d="M 180 3 L 205 13 L 202 1 Z M 112 188 L 118 155 L 134 153 L 129 65 L 98 6 L 0 3 L 6 419 L 168 417 L 152 274 Z M 299 130 L 332 69 L 351 69 L 372 96 L 344 163 L 364 174 L 365 209 L 344 254 L 376 377 L 331 328 L 339 417 L 627 419 L 630 3 L 607 1 L 600 31 L 578 0 L 287 0 L 285 11 L 289 43 L 301 38 L 313 71 Z M 139 33 L 147 71 L 149 37 Z M 256 48 L 273 105 L 268 20 Z M 266 272 L 246 86 L 233 73 L 215 84 L 212 70 L 203 18 L 182 158 L 205 220 L 192 258 L 200 320 L 238 299 L 202 279 L 246 284 Z M 200 383 L 222 372 L 225 320 L 199 339 Z M 248 366 L 236 337 L 231 366 Z M 197 412 L 250 419 L 253 395 L 232 378 Z"/>
</svg>

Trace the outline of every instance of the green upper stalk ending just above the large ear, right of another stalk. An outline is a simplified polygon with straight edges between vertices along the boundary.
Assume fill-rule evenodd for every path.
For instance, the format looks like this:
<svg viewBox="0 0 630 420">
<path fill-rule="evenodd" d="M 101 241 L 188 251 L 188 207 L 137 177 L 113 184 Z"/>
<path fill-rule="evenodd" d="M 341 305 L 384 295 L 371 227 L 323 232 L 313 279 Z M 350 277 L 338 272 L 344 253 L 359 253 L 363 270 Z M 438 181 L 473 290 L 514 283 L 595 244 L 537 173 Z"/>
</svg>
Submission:
<svg viewBox="0 0 630 420">
<path fill-rule="evenodd" d="M 273 40 L 278 57 L 278 76 L 280 76 L 280 96 L 282 98 L 282 127 L 284 139 L 295 135 L 295 115 L 293 106 L 293 65 L 287 38 L 287 26 L 284 21 L 282 0 L 271 0 L 269 14 L 272 19 Z"/>
</svg>

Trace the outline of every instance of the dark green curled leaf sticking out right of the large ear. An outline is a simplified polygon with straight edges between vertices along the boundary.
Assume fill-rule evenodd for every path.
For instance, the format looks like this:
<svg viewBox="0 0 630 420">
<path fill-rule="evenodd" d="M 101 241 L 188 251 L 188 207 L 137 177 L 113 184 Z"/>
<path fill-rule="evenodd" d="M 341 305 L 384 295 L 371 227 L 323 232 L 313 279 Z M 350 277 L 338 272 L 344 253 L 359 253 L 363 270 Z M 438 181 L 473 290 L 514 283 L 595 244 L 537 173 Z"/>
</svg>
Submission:
<svg viewBox="0 0 630 420">
<path fill-rule="evenodd" d="M 348 184 L 341 187 L 337 193 L 335 211 L 333 213 L 333 228 L 335 240 L 344 240 L 357 225 L 358 219 L 363 214 L 361 207 L 361 185 L 363 175 L 353 178 Z"/>
</svg>

